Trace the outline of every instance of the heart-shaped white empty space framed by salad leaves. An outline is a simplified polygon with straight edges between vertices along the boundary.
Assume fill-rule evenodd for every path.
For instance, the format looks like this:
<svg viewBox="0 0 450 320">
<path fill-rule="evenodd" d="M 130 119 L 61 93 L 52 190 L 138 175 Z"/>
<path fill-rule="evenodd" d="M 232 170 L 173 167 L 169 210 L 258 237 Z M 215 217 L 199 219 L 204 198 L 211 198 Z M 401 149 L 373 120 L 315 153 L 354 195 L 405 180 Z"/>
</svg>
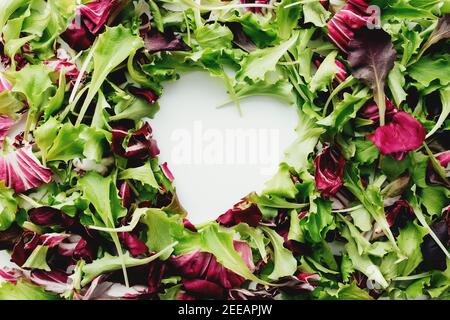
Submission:
<svg viewBox="0 0 450 320">
<path fill-rule="evenodd" d="M 294 106 L 270 97 L 241 101 L 242 116 L 222 80 L 191 72 L 167 83 L 149 122 L 193 223 L 216 219 L 242 197 L 261 191 L 295 140 Z"/>
</svg>

